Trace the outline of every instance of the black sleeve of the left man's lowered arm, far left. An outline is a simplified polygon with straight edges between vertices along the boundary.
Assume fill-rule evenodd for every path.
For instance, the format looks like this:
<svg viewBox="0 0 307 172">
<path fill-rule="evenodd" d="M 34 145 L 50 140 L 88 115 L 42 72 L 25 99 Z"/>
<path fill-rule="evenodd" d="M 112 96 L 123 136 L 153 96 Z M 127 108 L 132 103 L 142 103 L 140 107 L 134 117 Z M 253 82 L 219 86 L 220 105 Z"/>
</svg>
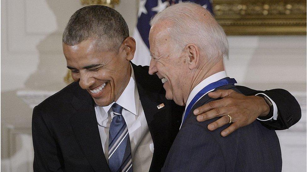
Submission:
<svg viewBox="0 0 307 172">
<path fill-rule="evenodd" d="M 32 139 L 34 147 L 34 171 L 64 171 L 61 153 L 42 113 L 36 106 L 32 115 Z M 62 161 L 63 162 L 63 161 Z"/>
</svg>

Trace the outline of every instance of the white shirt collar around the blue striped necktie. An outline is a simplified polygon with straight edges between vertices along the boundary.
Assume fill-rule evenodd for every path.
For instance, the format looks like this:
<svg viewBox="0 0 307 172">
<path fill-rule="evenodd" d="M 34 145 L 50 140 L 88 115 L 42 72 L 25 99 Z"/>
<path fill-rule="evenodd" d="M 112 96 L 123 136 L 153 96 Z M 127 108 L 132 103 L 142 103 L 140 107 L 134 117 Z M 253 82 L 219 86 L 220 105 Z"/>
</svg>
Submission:
<svg viewBox="0 0 307 172">
<path fill-rule="evenodd" d="M 132 65 L 130 64 L 130 66 L 131 66 L 131 77 L 129 83 L 126 86 L 125 90 L 121 93 L 120 97 L 117 99 L 116 103 L 119 104 L 121 107 L 125 108 L 126 110 L 128 110 L 129 112 L 137 115 L 138 107 L 136 107 L 136 104 L 138 105 L 138 101 L 135 100 L 135 89 L 134 89 L 135 77 Z M 109 106 L 104 106 L 103 107 L 104 111 L 108 112 L 113 104 L 114 102 L 111 103 Z"/>
</svg>

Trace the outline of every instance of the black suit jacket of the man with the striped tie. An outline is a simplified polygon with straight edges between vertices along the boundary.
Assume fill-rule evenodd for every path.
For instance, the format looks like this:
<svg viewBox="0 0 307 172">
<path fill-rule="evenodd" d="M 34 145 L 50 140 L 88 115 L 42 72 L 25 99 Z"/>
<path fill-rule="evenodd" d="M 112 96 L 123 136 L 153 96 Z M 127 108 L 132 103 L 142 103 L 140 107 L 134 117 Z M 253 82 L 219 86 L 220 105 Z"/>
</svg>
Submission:
<svg viewBox="0 0 307 172">
<path fill-rule="evenodd" d="M 151 133 L 154 153 L 150 171 L 160 171 L 179 131 L 184 107 L 166 100 L 161 80 L 148 74 L 148 66 L 132 64 L 142 107 Z M 239 87 L 245 94 L 255 90 Z M 284 129 L 300 118 L 299 105 L 285 90 L 265 91 L 282 111 L 268 127 Z M 281 102 L 279 102 L 281 100 Z M 286 101 L 287 106 L 283 106 Z M 164 103 L 165 107 L 157 106 Z M 293 111 L 291 111 L 293 110 Z M 293 121 L 284 122 L 292 116 Z M 264 124 L 265 125 L 265 124 Z M 34 171 L 109 171 L 103 154 L 94 102 L 78 82 L 36 106 L 32 117 Z"/>
</svg>

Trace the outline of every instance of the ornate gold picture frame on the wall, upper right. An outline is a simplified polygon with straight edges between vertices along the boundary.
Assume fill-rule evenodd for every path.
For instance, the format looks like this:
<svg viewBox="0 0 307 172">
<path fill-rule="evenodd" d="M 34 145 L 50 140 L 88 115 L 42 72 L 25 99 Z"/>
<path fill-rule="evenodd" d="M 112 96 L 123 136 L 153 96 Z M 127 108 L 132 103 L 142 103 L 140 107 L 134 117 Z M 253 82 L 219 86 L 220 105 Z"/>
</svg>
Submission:
<svg viewBox="0 0 307 172">
<path fill-rule="evenodd" d="M 305 35 L 304 0 L 213 0 L 227 35 Z"/>
</svg>

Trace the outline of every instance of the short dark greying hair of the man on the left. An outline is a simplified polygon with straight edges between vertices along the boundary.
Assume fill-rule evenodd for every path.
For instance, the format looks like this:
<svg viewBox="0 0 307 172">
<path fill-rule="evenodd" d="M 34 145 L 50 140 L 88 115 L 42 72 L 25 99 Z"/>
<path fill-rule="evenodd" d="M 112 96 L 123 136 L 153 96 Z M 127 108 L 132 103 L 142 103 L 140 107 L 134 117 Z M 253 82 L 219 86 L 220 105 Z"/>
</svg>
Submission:
<svg viewBox="0 0 307 172">
<path fill-rule="evenodd" d="M 117 50 L 128 36 L 127 23 L 119 12 L 103 5 L 90 5 L 70 17 L 63 43 L 72 46 L 92 38 L 100 44 L 107 44 L 108 50 Z"/>
</svg>

